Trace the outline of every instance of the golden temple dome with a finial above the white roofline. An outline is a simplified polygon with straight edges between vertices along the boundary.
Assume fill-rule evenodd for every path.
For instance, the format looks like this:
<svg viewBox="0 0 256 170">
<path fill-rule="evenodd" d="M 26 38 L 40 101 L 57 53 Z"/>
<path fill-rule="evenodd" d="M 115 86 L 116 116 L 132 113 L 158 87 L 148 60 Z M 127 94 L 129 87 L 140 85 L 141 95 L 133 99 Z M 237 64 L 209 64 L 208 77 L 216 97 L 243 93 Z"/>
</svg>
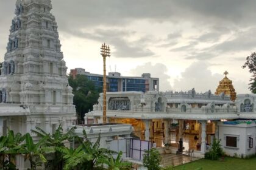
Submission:
<svg viewBox="0 0 256 170">
<path fill-rule="evenodd" d="M 230 100 L 235 101 L 236 92 L 233 87 L 232 80 L 229 80 L 229 78 L 227 78 L 227 74 L 227 71 L 224 72 L 225 77 L 221 81 L 219 81 L 219 86 L 216 89 L 215 94 L 219 95 L 224 92 L 225 95 L 230 95 Z"/>
</svg>

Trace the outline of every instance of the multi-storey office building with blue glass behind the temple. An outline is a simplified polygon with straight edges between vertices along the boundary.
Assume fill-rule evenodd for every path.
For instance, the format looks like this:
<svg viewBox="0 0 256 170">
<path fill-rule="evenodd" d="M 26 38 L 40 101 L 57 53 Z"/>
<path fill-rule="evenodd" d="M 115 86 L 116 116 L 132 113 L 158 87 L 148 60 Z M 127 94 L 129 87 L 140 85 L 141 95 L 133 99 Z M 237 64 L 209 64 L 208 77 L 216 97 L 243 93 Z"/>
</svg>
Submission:
<svg viewBox="0 0 256 170">
<path fill-rule="evenodd" d="M 85 72 L 85 69 L 71 69 L 70 75 L 85 75 L 94 85 L 102 89 L 103 75 Z M 109 72 L 107 75 L 108 92 L 148 92 L 159 91 L 159 78 L 152 78 L 150 73 L 143 73 L 141 77 L 122 77 L 121 73 Z"/>
</svg>

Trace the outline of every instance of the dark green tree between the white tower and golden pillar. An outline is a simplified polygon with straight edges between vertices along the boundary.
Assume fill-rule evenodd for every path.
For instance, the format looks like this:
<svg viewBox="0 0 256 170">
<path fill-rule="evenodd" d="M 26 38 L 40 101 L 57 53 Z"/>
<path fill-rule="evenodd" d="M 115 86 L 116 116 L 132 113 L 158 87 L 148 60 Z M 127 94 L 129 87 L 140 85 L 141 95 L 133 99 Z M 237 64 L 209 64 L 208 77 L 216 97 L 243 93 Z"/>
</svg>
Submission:
<svg viewBox="0 0 256 170">
<path fill-rule="evenodd" d="M 98 103 L 99 90 L 95 88 L 93 81 L 84 75 L 77 75 L 76 78 L 69 76 L 69 85 L 73 88 L 74 105 L 80 120 L 84 120 L 85 113 L 93 110 L 93 104 Z"/>
</svg>

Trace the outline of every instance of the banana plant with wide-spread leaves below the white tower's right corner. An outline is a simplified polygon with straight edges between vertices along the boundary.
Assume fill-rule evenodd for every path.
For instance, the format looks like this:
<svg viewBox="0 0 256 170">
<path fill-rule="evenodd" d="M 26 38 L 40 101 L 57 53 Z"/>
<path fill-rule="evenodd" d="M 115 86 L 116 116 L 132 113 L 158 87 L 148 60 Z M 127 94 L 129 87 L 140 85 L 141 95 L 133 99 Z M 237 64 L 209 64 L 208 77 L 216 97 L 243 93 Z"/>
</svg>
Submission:
<svg viewBox="0 0 256 170">
<path fill-rule="evenodd" d="M 36 130 L 31 130 L 32 133 L 37 134 L 38 137 L 46 138 L 46 146 L 52 148 L 62 148 L 65 146 L 65 141 L 71 140 L 73 138 L 72 134 L 76 127 L 72 127 L 69 129 L 66 134 L 63 133 L 62 125 L 60 124 L 54 134 L 47 134 L 40 127 L 35 127 Z M 54 159 L 48 161 L 47 167 L 52 166 L 53 169 L 62 170 L 63 169 L 63 154 L 55 149 Z"/>
</svg>

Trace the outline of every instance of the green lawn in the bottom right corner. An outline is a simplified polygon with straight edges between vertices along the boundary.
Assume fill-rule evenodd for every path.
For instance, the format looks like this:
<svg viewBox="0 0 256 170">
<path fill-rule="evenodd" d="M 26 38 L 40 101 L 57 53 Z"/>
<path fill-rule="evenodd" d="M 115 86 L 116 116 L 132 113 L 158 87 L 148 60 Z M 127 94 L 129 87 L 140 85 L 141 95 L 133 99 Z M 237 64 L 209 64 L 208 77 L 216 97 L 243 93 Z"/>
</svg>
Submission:
<svg viewBox="0 0 256 170">
<path fill-rule="evenodd" d="M 185 166 L 185 169 L 184 169 Z M 184 165 L 176 166 L 174 170 L 194 170 L 202 168 L 202 170 L 252 170 L 256 169 L 256 158 L 241 159 L 233 157 L 225 157 L 224 161 L 213 160 L 197 160 Z"/>
</svg>

